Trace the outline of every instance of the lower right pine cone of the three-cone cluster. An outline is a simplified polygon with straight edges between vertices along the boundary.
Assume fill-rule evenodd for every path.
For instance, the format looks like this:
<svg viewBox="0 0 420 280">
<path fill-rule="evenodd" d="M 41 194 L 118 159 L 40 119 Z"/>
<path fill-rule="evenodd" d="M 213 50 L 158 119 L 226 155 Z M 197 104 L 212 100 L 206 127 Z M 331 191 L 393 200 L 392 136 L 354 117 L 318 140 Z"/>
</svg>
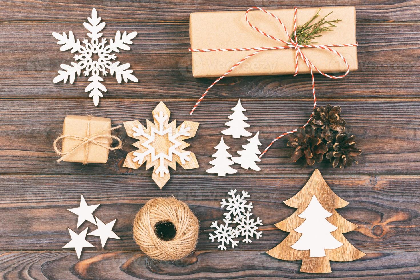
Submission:
<svg viewBox="0 0 420 280">
<path fill-rule="evenodd" d="M 333 167 L 350 167 L 353 162 L 358 164 L 358 162 L 353 159 L 353 156 L 360 155 L 362 151 L 355 147 L 355 138 L 354 135 L 349 136 L 348 134 L 339 133 L 327 143 L 328 153 L 326 154 L 326 158 L 331 161 Z"/>
</svg>

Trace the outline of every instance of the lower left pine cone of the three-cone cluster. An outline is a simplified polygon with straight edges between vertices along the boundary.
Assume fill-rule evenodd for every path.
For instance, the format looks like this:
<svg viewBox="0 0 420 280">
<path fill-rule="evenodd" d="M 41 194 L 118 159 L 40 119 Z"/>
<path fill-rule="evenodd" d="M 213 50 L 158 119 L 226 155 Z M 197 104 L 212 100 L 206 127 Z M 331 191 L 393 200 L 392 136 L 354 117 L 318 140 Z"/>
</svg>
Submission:
<svg viewBox="0 0 420 280">
<path fill-rule="evenodd" d="M 291 160 L 299 160 L 300 166 L 305 168 L 308 164 L 312 165 L 323 160 L 323 155 L 328 151 L 322 142 L 322 137 L 315 133 L 312 127 L 299 128 L 296 132 L 288 136 L 287 146 L 291 149 Z"/>
</svg>

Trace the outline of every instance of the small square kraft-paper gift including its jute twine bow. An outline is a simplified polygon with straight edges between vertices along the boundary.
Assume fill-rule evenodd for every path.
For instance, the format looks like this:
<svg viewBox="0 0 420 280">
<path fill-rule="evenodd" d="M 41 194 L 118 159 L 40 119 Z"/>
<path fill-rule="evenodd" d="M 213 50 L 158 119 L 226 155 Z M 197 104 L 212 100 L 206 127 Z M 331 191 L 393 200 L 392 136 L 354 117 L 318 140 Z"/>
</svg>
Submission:
<svg viewBox="0 0 420 280">
<path fill-rule="evenodd" d="M 121 148 L 121 139 L 111 135 L 111 119 L 95 116 L 66 116 L 63 134 L 54 141 L 54 150 L 62 157 L 57 161 L 106 163 L 110 150 Z M 59 140 L 61 152 L 57 148 Z M 118 140 L 117 147 L 110 147 L 112 139 Z"/>
</svg>

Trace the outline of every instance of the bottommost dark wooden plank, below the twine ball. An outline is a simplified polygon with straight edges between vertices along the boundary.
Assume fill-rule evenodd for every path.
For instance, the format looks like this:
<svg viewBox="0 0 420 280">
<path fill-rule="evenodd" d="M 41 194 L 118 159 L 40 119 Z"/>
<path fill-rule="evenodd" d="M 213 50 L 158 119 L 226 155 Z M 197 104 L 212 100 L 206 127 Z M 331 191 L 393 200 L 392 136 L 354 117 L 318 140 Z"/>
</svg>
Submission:
<svg viewBox="0 0 420 280">
<path fill-rule="evenodd" d="M 226 259 L 231 262 L 220 262 Z M 85 251 L 78 262 L 64 251 L 0 252 L 4 280 L 16 279 L 407 279 L 420 277 L 419 252 L 368 252 L 354 262 L 331 262 L 332 273 L 299 273 L 299 262 L 264 251 L 197 251 L 183 261 L 153 262 L 141 252 Z M 41 267 L 41 269 L 39 269 Z"/>
</svg>

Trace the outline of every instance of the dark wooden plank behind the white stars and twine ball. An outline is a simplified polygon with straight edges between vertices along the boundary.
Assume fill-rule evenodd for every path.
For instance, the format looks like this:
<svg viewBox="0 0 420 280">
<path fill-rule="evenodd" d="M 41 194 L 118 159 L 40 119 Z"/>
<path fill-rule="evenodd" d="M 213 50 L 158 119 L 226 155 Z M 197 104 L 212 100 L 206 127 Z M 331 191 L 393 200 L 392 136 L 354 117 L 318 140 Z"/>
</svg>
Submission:
<svg viewBox="0 0 420 280">
<path fill-rule="evenodd" d="M 311 170 L 311 172 L 313 169 Z M 296 194 L 308 175 L 192 176 L 173 174 L 160 190 L 150 176 L 124 175 L 3 175 L 0 176 L 0 248 L 2 250 L 61 250 L 68 240 L 67 227 L 76 230 L 77 217 L 66 209 L 77 207 L 80 194 L 88 205 L 101 204 L 95 215 L 103 222 L 118 218 L 114 226 L 121 240 L 108 240 L 107 250 L 138 250 L 132 227 L 134 217 L 150 198 L 175 196 L 187 203 L 200 222 L 198 250 L 216 250 L 208 234 L 223 218 L 220 201 L 231 188 L 248 191 L 255 217 L 262 219 L 262 237 L 238 250 L 267 251 L 289 232 L 277 222 L 296 209 L 283 201 Z M 331 189 L 349 205 L 337 212 L 358 225 L 344 233 L 364 251 L 418 251 L 420 246 L 419 176 L 325 176 Z M 234 186 L 232 185 L 234 182 Z M 275 209 L 275 211 L 273 211 Z M 13 219 L 11 219 L 13 217 Z M 90 226 L 89 222 L 76 230 Z M 87 240 L 100 248 L 100 240 Z M 228 250 L 229 251 L 229 250 Z M 219 261 L 219 260 L 218 260 Z"/>
</svg>

